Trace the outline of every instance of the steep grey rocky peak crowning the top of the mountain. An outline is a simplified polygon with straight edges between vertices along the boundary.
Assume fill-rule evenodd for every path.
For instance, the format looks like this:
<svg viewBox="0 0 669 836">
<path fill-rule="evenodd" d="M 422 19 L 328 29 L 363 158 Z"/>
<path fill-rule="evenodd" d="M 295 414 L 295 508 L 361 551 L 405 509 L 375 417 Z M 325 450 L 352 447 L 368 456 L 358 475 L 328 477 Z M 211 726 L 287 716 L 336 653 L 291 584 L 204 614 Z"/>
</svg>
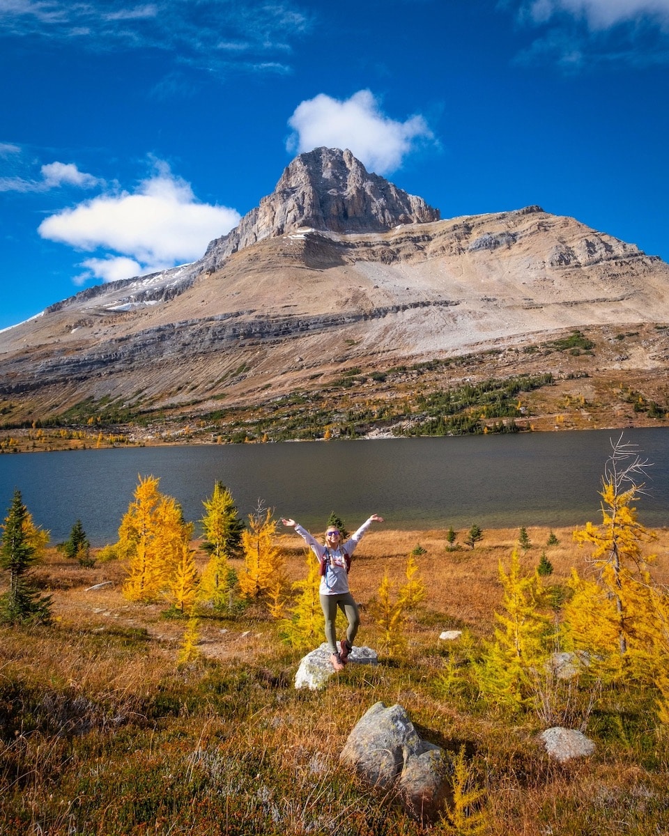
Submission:
<svg viewBox="0 0 669 836">
<path fill-rule="evenodd" d="M 227 235 L 212 241 L 205 268 L 232 252 L 299 227 L 329 232 L 384 232 L 401 223 L 439 220 L 439 210 L 370 174 L 350 150 L 315 148 L 287 166 L 272 194 Z"/>
</svg>

